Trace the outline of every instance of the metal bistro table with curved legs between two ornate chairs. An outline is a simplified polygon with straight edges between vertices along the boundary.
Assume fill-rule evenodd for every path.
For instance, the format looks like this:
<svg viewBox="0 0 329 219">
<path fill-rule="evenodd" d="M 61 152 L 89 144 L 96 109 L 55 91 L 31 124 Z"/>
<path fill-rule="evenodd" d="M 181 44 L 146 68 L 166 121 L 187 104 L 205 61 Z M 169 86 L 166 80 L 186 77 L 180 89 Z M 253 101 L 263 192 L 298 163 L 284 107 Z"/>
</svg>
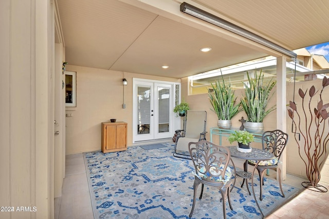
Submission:
<svg viewBox="0 0 329 219">
<path fill-rule="evenodd" d="M 227 148 L 231 152 L 231 157 L 240 158 L 240 159 L 244 159 L 244 160 L 257 160 L 258 161 L 256 163 L 256 165 L 253 167 L 251 176 L 250 176 L 250 173 L 245 172 L 245 171 L 237 172 L 236 175 L 241 176 L 243 178 L 251 177 L 251 189 L 252 189 L 253 198 L 256 202 L 258 209 L 260 210 L 260 212 L 262 214 L 262 217 L 264 218 L 264 214 L 263 214 L 261 208 L 259 207 L 257 198 L 255 196 L 255 192 L 254 192 L 254 188 L 253 188 L 253 175 L 261 160 L 271 160 L 274 158 L 274 155 L 269 153 L 268 151 L 265 151 L 262 149 L 256 149 L 256 148 L 252 148 L 251 152 L 249 152 L 249 153 L 243 153 L 243 152 L 237 151 L 236 146 L 228 146 Z M 232 161 L 232 163 L 233 163 L 233 161 Z M 234 163 L 233 163 L 233 166 L 234 166 Z M 235 166 L 234 166 L 234 169 L 235 169 Z M 234 180 L 234 183 L 235 183 L 235 180 Z M 248 185 L 247 185 L 247 188 L 248 188 Z M 248 188 L 248 191 L 249 191 L 249 188 Z"/>
</svg>

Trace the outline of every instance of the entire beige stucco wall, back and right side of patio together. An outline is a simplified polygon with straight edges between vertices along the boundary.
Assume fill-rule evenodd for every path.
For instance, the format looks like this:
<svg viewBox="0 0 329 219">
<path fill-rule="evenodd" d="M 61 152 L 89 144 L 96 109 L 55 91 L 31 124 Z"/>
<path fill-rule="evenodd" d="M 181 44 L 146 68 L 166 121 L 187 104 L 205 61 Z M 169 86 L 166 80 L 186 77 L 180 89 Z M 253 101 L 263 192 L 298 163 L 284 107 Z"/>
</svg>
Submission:
<svg viewBox="0 0 329 219">
<path fill-rule="evenodd" d="M 66 111 L 72 117 L 66 117 L 66 154 L 76 154 L 85 151 L 100 150 L 101 138 L 101 122 L 109 121 L 116 118 L 117 121 L 125 121 L 128 123 L 128 145 L 132 145 L 132 78 L 143 78 L 160 81 L 179 82 L 177 79 L 162 78 L 148 75 L 133 74 L 128 72 L 101 70 L 94 68 L 86 68 L 79 66 L 67 65 L 68 71 L 77 72 L 77 107 L 73 110 Z M 125 87 L 125 104 L 126 108 L 122 108 L 123 102 L 123 85 L 122 79 L 126 78 L 128 85 Z M 217 117 L 211 111 L 211 105 L 208 94 L 188 95 L 188 79 L 181 79 L 181 95 L 190 103 L 191 109 L 207 111 L 207 139 L 210 139 L 210 127 L 217 126 Z M 306 81 L 296 84 L 296 92 L 299 87 L 307 88 L 310 85 L 321 87 L 321 81 Z M 276 87 L 274 88 L 276 89 Z M 287 103 L 293 100 L 293 83 L 287 83 Z M 243 89 L 236 90 L 236 96 L 239 100 L 242 96 Z M 324 94 L 324 102 L 329 102 L 329 89 Z M 297 93 L 296 93 L 297 95 Z M 269 103 L 273 105 L 276 102 L 274 95 Z M 297 101 L 297 100 L 296 100 Z M 68 109 L 68 108 L 67 108 Z M 244 112 L 239 113 L 232 119 L 233 127 L 240 127 L 241 117 L 246 119 Z M 264 129 L 276 129 L 277 114 L 276 111 L 271 112 L 264 119 Z M 289 141 L 286 148 L 287 153 L 287 172 L 299 176 L 305 176 L 305 166 L 298 155 L 298 148 L 291 133 L 291 119 L 287 118 L 287 132 Z M 223 144 L 229 145 L 224 137 Z M 213 136 L 213 141 L 218 142 L 218 136 Z M 253 143 L 253 147 L 261 148 L 260 143 Z M 327 158 L 326 158 L 327 159 Z M 322 181 L 329 182 L 329 160 L 327 159 L 324 168 L 322 168 Z"/>
</svg>

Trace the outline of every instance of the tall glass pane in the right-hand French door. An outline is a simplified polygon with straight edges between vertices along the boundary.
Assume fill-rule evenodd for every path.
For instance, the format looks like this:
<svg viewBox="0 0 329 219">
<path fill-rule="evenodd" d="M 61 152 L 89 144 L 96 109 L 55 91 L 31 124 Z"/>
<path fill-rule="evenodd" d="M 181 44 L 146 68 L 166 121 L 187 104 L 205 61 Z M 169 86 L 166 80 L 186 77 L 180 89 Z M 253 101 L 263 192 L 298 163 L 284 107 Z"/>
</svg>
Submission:
<svg viewBox="0 0 329 219">
<path fill-rule="evenodd" d="M 158 95 L 158 133 L 169 132 L 170 89 L 157 87 Z"/>
</svg>

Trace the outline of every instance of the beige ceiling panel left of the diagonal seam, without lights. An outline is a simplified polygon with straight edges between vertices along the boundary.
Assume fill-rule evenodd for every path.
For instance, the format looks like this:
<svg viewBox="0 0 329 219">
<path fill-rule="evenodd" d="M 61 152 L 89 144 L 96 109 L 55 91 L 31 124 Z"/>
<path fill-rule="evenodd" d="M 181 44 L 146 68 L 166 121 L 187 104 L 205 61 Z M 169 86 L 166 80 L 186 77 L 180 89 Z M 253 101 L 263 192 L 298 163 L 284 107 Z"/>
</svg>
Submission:
<svg viewBox="0 0 329 219">
<path fill-rule="evenodd" d="M 58 1 L 72 65 L 109 69 L 157 17 L 115 1 Z"/>
</svg>

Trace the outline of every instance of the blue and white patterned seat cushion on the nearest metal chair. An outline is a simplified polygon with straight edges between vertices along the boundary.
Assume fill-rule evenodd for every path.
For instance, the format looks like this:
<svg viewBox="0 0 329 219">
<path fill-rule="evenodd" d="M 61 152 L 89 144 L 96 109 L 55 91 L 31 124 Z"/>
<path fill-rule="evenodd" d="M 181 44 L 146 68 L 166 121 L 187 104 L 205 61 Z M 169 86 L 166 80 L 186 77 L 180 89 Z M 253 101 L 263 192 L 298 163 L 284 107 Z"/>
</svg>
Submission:
<svg viewBox="0 0 329 219">
<path fill-rule="evenodd" d="M 205 167 L 198 168 L 197 174 L 194 173 L 194 175 L 197 176 L 199 179 L 214 180 L 215 182 L 223 182 L 224 184 L 226 184 L 226 182 L 228 182 L 232 178 L 232 170 L 231 170 L 231 168 L 229 168 L 229 167 L 226 168 L 224 179 L 222 179 L 222 175 L 221 175 L 220 172 L 216 172 L 216 169 L 223 170 L 224 169 L 224 165 L 221 165 L 219 168 L 210 167 L 210 173 L 212 175 L 210 175 L 209 172 L 206 172 L 206 168 Z M 204 172 L 206 172 L 206 173 L 203 174 Z"/>
</svg>

